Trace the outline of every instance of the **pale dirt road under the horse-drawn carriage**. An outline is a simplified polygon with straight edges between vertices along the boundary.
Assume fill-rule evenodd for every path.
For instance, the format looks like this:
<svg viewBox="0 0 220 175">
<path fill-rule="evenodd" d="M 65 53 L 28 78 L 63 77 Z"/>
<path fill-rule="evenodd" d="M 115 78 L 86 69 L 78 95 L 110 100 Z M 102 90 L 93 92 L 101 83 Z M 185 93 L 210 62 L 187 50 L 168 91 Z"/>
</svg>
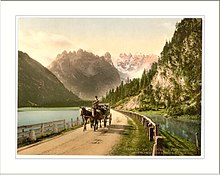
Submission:
<svg viewBox="0 0 220 175">
<path fill-rule="evenodd" d="M 18 149 L 18 155 L 109 155 L 112 147 L 120 140 L 127 117 L 119 112 L 111 111 L 112 125 L 108 128 L 99 128 L 96 132 L 87 124 L 83 128 L 70 131 L 44 140 L 35 145 Z"/>
</svg>

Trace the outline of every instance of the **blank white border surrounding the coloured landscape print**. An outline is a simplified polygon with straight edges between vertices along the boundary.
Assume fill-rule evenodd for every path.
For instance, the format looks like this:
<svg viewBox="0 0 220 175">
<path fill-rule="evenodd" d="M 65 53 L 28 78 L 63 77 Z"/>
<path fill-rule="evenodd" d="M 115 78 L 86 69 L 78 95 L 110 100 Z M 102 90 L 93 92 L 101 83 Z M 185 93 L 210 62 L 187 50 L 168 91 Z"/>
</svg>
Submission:
<svg viewBox="0 0 220 175">
<path fill-rule="evenodd" d="M 42 7 L 43 6 L 43 7 Z M 126 8 L 124 8 L 126 7 Z M 94 9 L 98 9 L 95 11 Z M 204 15 L 205 157 L 203 159 L 15 159 L 14 79 L 16 15 Z M 218 1 L 1 1 L 1 173 L 217 173 L 219 172 L 219 2 Z M 208 57 L 207 57 L 208 56 Z M 11 67 L 12 66 L 12 67 Z M 214 78 L 213 78 L 214 76 Z M 217 76 L 217 77 L 216 77 Z M 204 79 L 203 78 L 203 79 Z M 214 80 L 213 80 L 214 79 Z M 12 109 L 11 109 L 11 106 Z M 12 121 L 12 126 L 10 125 Z M 5 132 L 8 132 L 5 134 Z M 212 139 L 215 134 L 216 140 Z M 105 160 L 105 161 L 103 161 Z M 135 160 L 135 161 L 134 161 Z M 156 161 L 156 162 L 155 162 Z M 95 164 L 99 165 L 96 169 Z M 85 167 L 86 165 L 86 167 Z M 109 167 L 110 165 L 110 167 Z M 38 168 L 36 167 L 38 166 Z M 40 167 L 40 168 L 39 168 Z"/>
</svg>

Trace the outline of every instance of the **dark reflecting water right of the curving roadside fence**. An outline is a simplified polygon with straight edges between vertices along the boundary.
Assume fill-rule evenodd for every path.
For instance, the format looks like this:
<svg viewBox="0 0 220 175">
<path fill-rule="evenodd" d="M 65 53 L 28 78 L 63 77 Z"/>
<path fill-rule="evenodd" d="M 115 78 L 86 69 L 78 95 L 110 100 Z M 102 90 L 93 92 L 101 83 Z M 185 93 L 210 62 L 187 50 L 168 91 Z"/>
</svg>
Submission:
<svg viewBox="0 0 220 175">
<path fill-rule="evenodd" d="M 155 114 L 147 115 L 147 117 L 151 118 L 155 123 L 158 123 L 161 129 L 170 134 L 195 143 L 195 133 L 197 132 L 199 142 L 201 140 L 201 122 L 198 120 L 179 120 L 171 117 L 166 118 Z"/>
</svg>

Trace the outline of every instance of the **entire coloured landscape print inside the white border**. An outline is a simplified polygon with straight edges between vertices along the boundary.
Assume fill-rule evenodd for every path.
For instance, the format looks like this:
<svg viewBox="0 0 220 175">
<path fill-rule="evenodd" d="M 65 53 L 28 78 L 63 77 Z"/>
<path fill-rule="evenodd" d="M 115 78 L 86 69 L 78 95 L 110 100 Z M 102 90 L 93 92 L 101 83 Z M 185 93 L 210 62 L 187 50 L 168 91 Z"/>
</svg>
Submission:
<svg viewBox="0 0 220 175">
<path fill-rule="evenodd" d="M 17 155 L 200 157 L 202 24 L 18 16 Z"/>
</svg>

